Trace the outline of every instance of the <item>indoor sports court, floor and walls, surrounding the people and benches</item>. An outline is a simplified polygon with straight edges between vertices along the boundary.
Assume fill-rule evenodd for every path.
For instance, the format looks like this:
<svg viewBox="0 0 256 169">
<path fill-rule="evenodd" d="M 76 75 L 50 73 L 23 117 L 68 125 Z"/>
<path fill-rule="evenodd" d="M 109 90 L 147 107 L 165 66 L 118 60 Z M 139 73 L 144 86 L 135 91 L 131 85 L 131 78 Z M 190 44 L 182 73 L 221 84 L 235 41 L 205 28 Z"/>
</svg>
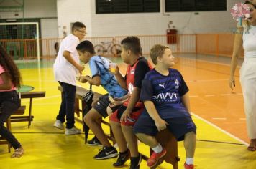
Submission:
<svg viewBox="0 0 256 169">
<path fill-rule="evenodd" d="M 46 93 L 45 97 L 33 99 L 33 120 L 29 127 L 27 121 L 11 122 L 12 133 L 22 143 L 25 153 L 22 158 L 10 158 L 14 150 L 9 153 L 8 145 L 0 145 L 0 168 L 114 168 L 112 164 L 116 158 L 93 159 L 93 155 L 96 155 L 101 147 L 86 145 L 84 132 L 80 135 L 64 135 L 63 131 L 52 126 L 61 102 L 59 84 L 54 79 L 52 67 L 58 53 L 58 45 L 65 34 L 70 34 L 70 24 L 77 20 L 86 24 L 88 33 L 85 39 L 93 42 L 98 54 L 117 63 L 122 74 L 125 74 L 127 69 L 127 64 L 124 64 L 120 57 L 120 42 L 125 37 L 139 37 L 143 56 L 151 63 L 149 53 L 154 44 L 170 47 L 175 57 L 173 68 L 183 74 L 189 88 L 192 118 L 197 127 L 194 161 L 196 169 L 256 168 L 256 153 L 247 150 L 250 138 L 247 136 L 244 100 L 239 83 L 239 68 L 243 57 L 240 57 L 235 72 L 235 89 L 229 88 L 236 25 L 229 10 L 240 1 L 219 1 L 219 4 L 216 2 L 215 5 L 219 6 L 219 9 L 209 8 L 209 11 L 204 11 L 206 4 L 204 6 L 203 2 L 195 0 L 194 4 L 202 3 L 201 7 L 197 6 L 194 11 L 190 11 L 188 9 L 191 9 L 193 3 L 187 2 L 188 6 L 183 6 L 185 11 L 179 12 L 172 11 L 172 6 L 185 3 L 184 1 L 151 1 L 156 3 L 153 6 L 159 6 L 159 9 L 152 7 L 148 10 L 153 12 L 142 11 L 139 14 L 135 11 L 127 12 L 132 13 L 129 16 L 122 14 L 125 13 L 122 11 L 104 11 L 107 8 L 100 10 L 99 6 L 106 2 L 103 0 L 76 0 L 76 3 L 69 0 L 55 0 L 54 3 L 45 0 L 37 1 L 39 4 L 35 4 L 35 1 L 0 1 L 0 44 L 13 57 L 22 74 L 23 89 L 20 90 Z M 132 2 L 134 1 L 130 1 Z M 84 7 L 86 5 L 88 7 Z M 119 1 L 119 6 L 122 5 Z M 47 14 L 40 6 L 45 6 Z M 140 6 L 140 3 L 134 2 L 134 6 Z M 73 12 L 73 16 L 66 14 L 68 10 Z M 86 11 L 88 15 L 81 14 L 82 11 Z M 150 19 L 147 16 L 150 16 Z M 180 21 L 178 18 L 186 21 Z M 116 23 L 117 19 L 120 23 Z M 106 25 L 104 29 L 102 23 Z M 128 29 L 129 26 L 133 30 Z M 140 29 L 137 29 L 138 26 L 141 26 Z M 11 31 L 14 32 L 9 36 Z M 37 36 L 38 34 L 40 36 Z M 88 64 L 84 66 L 83 75 L 91 75 Z M 77 82 L 77 85 L 89 89 L 88 83 Z M 93 86 L 92 90 L 106 94 L 103 87 Z M 29 99 L 22 99 L 22 105 L 26 106 L 25 115 L 29 114 L 30 104 Z M 82 120 L 81 115 L 78 119 Z M 108 119 L 109 117 L 106 117 L 105 120 Z M 83 128 L 81 122 L 76 122 L 75 125 Z M 109 133 L 108 126 L 103 125 L 103 128 L 104 132 Z M 93 136 L 90 130 L 88 140 Z M 140 153 L 150 155 L 147 145 L 140 142 L 138 145 Z M 178 168 L 183 168 L 186 158 L 183 142 L 178 143 L 178 157 Z M 129 160 L 123 168 L 129 168 Z M 140 168 L 148 168 L 145 160 L 142 160 Z M 172 165 L 164 162 L 157 168 L 172 168 Z"/>
</svg>

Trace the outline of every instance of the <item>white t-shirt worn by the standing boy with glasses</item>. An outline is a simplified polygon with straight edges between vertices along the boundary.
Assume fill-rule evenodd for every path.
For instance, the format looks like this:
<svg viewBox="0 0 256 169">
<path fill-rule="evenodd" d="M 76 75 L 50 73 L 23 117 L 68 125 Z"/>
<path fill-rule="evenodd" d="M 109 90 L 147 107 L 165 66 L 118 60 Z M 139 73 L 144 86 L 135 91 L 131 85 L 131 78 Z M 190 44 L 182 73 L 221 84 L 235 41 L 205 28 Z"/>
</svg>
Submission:
<svg viewBox="0 0 256 169">
<path fill-rule="evenodd" d="M 65 37 L 61 42 L 58 56 L 53 64 L 55 80 L 76 86 L 76 74 L 78 73 L 78 69 L 63 57 L 63 52 L 69 51 L 71 57 L 79 63 L 79 55 L 76 51 L 76 46 L 78 44 L 79 39 L 73 34 L 68 35 L 68 37 Z"/>
</svg>

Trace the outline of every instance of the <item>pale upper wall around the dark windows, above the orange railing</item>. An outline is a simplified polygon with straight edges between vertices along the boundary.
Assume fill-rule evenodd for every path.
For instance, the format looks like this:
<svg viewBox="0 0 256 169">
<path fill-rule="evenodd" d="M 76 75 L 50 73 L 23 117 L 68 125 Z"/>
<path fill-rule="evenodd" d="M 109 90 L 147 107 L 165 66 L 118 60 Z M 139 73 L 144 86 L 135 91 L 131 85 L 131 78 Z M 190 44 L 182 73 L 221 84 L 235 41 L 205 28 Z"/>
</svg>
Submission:
<svg viewBox="0 0 256 169">
<path fill-rule="evenodd" d="M 194 12 L 163 14 L 163 1 L 160 0 L 160 13 L 96 14 L 95 0 L 25 0 L 24 17 L 42 18 L 43 37 L 63 37 L 63 31 L 70 34 L 70 24 L 75 21 L 86 24 L 88 37 L 165 34 L 169 21 L 173 21 L 171 26 L 178 29 L 178 34 L 231 32 L 235 27 L 230 9 L 239 0 L 227 0 L 227 11 L 198 15 Z M 22 15 L 1 12 L 0 16 L 14 19 Z"/>
</svg>

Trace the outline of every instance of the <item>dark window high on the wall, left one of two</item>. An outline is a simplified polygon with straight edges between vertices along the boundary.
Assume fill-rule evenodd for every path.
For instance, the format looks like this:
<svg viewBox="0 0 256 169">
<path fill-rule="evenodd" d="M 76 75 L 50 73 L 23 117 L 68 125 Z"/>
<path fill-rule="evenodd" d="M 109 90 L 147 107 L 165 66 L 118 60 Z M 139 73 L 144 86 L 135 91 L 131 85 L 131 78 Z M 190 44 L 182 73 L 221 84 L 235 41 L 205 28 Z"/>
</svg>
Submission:
<svg viewBox="0 0 256 169">
<path fill-rule="evenodd" d="M 160 12 L 160 0 L 96 0 L 96 14 Z"/>
</svg>

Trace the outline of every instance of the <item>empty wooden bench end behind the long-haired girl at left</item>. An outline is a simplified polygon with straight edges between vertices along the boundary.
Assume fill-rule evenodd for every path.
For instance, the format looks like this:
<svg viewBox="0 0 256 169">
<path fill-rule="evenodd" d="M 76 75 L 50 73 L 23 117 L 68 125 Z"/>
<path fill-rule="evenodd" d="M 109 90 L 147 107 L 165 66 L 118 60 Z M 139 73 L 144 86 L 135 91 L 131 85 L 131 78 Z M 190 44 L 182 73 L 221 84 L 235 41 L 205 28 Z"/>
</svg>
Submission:
<svg viewBox="0 0 256 169">
<path fill-rule="evenodd" d="M 30 127 L 34 116 L 32 116 L 32 103 L 33 98 L 45 97 L 45 92 L 21 92 L 22 99 L 29 99 L 29 115 L 24 115 L 21 112 L 17 112 L 15 116 L 11 117 L 11 122 L 29 122 Z M 23 106 L 22 106 L 23 107 Z"/>
</svg>

